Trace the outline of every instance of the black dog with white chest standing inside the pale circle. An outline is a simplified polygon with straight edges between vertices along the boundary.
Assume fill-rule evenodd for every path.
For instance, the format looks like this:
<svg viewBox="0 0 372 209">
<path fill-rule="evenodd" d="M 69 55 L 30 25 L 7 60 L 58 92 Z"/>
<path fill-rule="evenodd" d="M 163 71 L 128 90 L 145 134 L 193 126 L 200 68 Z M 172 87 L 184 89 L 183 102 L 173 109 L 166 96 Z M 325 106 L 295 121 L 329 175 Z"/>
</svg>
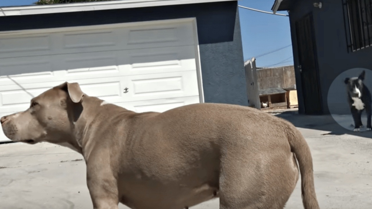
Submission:
<svg viewBox="0 0 372 209">
<path fill-rule="evenodd" d="M 367 131 L 372 130 L 371 126 L 371 92 L 363 84 L 366 72 L 363 70 L 358 77 L 345 78 L 347 101 L 354 119 L 354 131 L 363 127 L 361 115 L 363 110 L 367 113 Z"/>
</svg>

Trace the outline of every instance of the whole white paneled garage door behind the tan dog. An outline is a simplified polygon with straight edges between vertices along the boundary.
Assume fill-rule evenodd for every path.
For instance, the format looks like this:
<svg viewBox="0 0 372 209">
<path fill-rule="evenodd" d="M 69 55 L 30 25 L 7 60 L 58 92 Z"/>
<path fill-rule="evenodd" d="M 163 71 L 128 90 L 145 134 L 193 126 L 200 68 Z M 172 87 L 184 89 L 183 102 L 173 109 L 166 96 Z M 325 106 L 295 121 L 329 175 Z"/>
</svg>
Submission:
<svg viewBox="0 0 372 209">
<path fill-rule="evenodd" d="M 136 112 L 203 102 L 193 21 L 0 34 L 0 116 L 64 81 Z"/>
</svg>

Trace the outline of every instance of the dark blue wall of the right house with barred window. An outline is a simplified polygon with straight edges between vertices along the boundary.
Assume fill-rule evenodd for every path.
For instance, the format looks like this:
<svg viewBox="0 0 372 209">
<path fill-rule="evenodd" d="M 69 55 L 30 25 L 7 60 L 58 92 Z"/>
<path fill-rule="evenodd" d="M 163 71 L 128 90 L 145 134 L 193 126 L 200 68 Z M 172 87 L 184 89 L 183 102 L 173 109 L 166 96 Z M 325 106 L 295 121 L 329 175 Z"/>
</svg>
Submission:
<svg viewBox="0 0 372 209">
<path fill-rule="evenodd" d="M 333 84 L 336 85 L 333 89 L 337 90 L 331 92 L 331 94 L 342 96 L 337 96 L 336 98 L 331 95 L 330 98 L 328 98 L 328 90 L 336 77 L 346 70 L 352 68 L 367 68 L 372 70 L 372 47 L 357 52 L 348 52 L 342 0 L 323 0 L 321 9 L 314 7 L 313 3 L 314 1 L 312 0 L 298 0 L 290 10 L 289 19 L 291 25 L 296 82 L 298 94 L 301 94 L 301 96 L 299 96 L 299 103 L 303 104 L 303 99 L 301 92 L 301 78 L 299 70 L 296 67 L 299 65 L 299 61 L 295 22 L 304 15 L 312 12 L 314 18 L 315 44 L 317 47 L 321 97 L 324 108 L 323 112 L 329 114 L 329 109 L 331 109 L 332 113 L 347 114 L 350 113 L 350 110 L 346 103 L 346 97 L 344 98 L 346 91 L 344 84 L 342 83 L 343 79 L 340 77 L 337 78 Z M 355 73 L 359 73 L 359 71 L 357 70 L 352 73 L 342 74 L 341 77 L 357 76 L 358 74 Z M 368 72 L 366 75 L 368 75 Z M 303 107 L 303 105 L 301 106 Z M 303 112 L 303 109 L 299 111 Z"/>
</svg>

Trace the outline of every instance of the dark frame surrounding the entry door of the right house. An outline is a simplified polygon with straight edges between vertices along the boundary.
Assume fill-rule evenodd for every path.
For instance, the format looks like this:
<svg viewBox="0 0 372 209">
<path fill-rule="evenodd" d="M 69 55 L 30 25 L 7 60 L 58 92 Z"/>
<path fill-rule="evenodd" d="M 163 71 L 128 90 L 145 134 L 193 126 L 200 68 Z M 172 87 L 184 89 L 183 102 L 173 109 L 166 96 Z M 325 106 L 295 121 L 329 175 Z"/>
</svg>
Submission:
<svg viewBox="0 0 372 209">
<path fill-rule="evenodd" d="M 314 16 L 312 15 L 313 12 L 309 12 L 309 13 L 306 13 L 305 15 L 301 16 L 299 19 L 295 20 L 294 22 L 294 25 L 295 25 L 295 35 L 296 35 L 296 50 L 297 50 L 297 63 L 298 65 L 301 65 L 302 67 L 302 63 L 301 63 L 301 56 L 300 56 L 300 53 L 301 53 L 301 46 L 300 46 L 300 43 L 299 43 L 299 36 L 298 36 L 298 25 L 299 25 L 299 22 L 301 22 L 301 20 L 305 19 L 305 17 L 309 16 L 310 18 L 310 29 L 311 29 L 311 39 L 312 39 L 312 49 L 313 49 L 313 53 L 314 53 L 314 67 L 315 67 L 315 81 L 316 81 L 316 85 L 318 87 L 318 99 L 319 99 L 319 103 L 320 103 L 320 112 L 319 113 L 307 113 L 306 111 L 306 106 L 307 104 L 305 103 L 305 100 L 304 100 L 304 96 L 306 95 L 304 92 L 305 92 L 305 89 L 304 89 L 304 85 L 303 85 L 303 82 L 302 82 L 302 72 L 300 72 L 298 70 L 298 73 L 299 73 L 299 78 L 300 78 L 300 82 L 301 82 L 301 94 L 302 94 L 302 105 L 304 107 L 304 114 L 305 115 L 323 115 L 324 114 L 324 106 L 323 106 L 323 97 L 322 97 L 322 89 L 321 89 L 321 86 L 320 86 L 320 76 L 319 76 L 319 63 L 318 63 L 318 53 L 317 53 L 317 46 L 316 46 L 316 39 L 315 39 L 315 30 L 314 30 Z M 298 68 L 298 65 L 295 66 L 296 68 Z"/>
</svg>

